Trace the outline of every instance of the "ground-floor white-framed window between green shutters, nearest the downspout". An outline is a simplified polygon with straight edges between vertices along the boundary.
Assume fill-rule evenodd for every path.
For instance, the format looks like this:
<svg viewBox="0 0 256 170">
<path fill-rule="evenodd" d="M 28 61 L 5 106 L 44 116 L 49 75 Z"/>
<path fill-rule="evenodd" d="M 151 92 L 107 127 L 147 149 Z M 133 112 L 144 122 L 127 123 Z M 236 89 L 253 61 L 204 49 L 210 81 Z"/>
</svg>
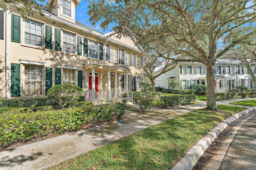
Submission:
<svg viewBox="0 0 256 170">
<path fill-rule="evenodd" d="M 25 96 L 42 95 L 43 67 L 25 65 Z"/>
</svg>

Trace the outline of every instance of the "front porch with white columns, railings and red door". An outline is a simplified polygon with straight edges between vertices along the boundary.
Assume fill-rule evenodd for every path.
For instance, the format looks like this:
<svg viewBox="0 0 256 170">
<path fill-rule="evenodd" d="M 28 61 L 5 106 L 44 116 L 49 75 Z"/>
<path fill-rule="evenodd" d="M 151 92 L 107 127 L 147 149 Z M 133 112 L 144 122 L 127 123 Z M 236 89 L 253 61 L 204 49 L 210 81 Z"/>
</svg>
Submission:
<svg viewBox="0 0 256 170">
<path fill-rule="evenodd" d="M 133 100 L 132 83 L 129 79 L 130 68 L 106 66 L 90 63 L 84 65 L 84 96 L 95 104 L 121 102 L 122 94 L 126 92 L 130 101 Z"/>
</svg>

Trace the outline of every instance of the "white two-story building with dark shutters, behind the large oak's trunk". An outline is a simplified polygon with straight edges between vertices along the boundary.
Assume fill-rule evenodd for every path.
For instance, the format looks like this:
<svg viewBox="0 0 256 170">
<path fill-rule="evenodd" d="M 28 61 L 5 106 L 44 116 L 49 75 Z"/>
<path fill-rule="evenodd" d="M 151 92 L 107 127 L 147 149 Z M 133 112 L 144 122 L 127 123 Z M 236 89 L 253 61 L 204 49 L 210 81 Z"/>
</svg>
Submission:
<svg viewBox="0 0 256 170">
<path fill-rule="evenodd" d="M 256 74 L 256 66 L 251 66 Z M 161 69 L 156 71 L 156 74 Z M 234 89 L 236 86 L 246 86 L 254 88 L 252 77 L 248 69 L 240 61 L 231 61 L 228 59 L 217 59 L 214 69 L 215 74 L 215 92 L 227 92 L 228 89 Z M 170 89 L 170 82 L 180 82 L 182 89 L 194 89 L 196 84 L 206 84 L 206 66 L 201 63 L 181 62 L 165 74 L 160 75 L 155 80 L 156 87 Z"/>
</svg>

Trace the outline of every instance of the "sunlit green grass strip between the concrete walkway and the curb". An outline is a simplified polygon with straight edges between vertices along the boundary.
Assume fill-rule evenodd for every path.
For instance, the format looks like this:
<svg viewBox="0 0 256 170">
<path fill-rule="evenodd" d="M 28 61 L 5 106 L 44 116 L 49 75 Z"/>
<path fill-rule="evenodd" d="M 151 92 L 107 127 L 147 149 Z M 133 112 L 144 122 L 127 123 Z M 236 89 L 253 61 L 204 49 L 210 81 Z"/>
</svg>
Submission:
<svg viewBox="0 0 256 170">
<path fill-rule="evenodd" d="M 246 109 L 217 107 L 225 112 L 195 110 L 185 113 L 48 169 L 170 169 L 220 121 Z"/>
</svg>

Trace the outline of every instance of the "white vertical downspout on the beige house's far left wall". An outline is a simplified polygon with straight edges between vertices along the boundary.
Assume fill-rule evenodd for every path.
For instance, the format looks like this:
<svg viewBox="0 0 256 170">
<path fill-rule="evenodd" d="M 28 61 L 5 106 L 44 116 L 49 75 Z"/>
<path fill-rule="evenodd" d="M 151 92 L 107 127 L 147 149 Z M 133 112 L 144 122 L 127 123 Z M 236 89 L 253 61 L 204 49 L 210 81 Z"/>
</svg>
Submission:
<svg viewBox="0 0 256 170">
<path fill-rule="evenodd" d="M 5 37 L 5 68 L 6 68 L 6 99 L 10 99 L 10 66 L 9 66 L 9 49 L 10 49 L 10 6 L 6 3 L 6 37 Z"/>
</svg>

